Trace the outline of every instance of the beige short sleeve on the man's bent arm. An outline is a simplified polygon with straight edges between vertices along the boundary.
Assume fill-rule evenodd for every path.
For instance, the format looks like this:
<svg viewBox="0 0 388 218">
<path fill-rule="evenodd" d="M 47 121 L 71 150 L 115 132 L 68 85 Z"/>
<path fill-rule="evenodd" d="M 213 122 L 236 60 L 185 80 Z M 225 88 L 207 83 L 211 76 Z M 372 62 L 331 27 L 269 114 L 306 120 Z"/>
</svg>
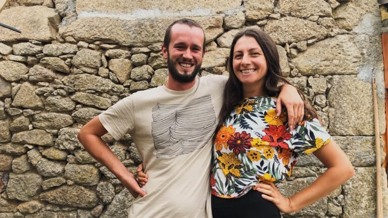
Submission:
<svg viewBox="0 0 388 218">
<path fill-rule="evenodd" d="M 135 126 L 132 96 L 128 96 L 109 107 L 107 111 L 99 115 L 99 119 L 113 138 L 116 140 L 122 138 Z"/>
</svg>

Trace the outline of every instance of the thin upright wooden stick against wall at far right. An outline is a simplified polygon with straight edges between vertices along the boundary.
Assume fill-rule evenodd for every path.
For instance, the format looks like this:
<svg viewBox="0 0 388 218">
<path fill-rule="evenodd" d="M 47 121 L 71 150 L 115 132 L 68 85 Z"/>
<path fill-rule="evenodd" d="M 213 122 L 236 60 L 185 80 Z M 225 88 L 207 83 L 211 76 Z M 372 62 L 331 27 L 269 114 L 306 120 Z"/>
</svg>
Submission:
<svg viewBox="0 0 388 218">
<path fill-rule="evenodd" d="M 378 128 L 378 109 L 377 109 L 377 93 L 376 81 L 372 79 L 373 87 L 373 112 L 374 112 L 374 137 L 376 140 L 376 213 L 377 218 L 382 217 L 382 189 L 381 189 L 381 155 L 380 155 L 380 131 Z"/>
</svg>

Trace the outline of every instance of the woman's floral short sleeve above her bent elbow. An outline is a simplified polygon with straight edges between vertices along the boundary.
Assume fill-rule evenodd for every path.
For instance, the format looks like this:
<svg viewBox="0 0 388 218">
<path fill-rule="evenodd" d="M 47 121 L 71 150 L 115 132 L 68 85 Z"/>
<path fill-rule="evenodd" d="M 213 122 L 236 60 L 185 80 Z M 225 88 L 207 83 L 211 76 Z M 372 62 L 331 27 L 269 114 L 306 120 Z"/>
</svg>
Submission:
<svg viewBox="0 0 388 218">
<path fill-rule="evenodd" d="M 299 154 L 310 154 L 330 142 L 331 136 L 319 123 L 318 119 L 303 121 L 293 130 L 293 137 L 289 140 L 288 146 Z"/>
</svg>

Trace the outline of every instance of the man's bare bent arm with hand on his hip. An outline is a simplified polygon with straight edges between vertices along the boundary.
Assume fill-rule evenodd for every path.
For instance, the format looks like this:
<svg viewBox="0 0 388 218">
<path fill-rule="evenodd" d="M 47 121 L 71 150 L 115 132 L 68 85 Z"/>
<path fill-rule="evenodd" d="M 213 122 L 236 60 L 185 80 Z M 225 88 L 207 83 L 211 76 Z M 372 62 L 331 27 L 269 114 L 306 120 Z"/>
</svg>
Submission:
<svg viewBox="0 0 388 218">
<path fill-rule="evenodd" d="M 134 197 L 146 195 L 146 192 L 137 184 L 134 175 L 125 168 L 123 163 L 101 139 L 101 136 L 106 133 L 107 130 L 97 116 L 82 127 L 78 133 L 78 140 L 82 143 L 85 150 L 107 167 Z"/>
</svg>

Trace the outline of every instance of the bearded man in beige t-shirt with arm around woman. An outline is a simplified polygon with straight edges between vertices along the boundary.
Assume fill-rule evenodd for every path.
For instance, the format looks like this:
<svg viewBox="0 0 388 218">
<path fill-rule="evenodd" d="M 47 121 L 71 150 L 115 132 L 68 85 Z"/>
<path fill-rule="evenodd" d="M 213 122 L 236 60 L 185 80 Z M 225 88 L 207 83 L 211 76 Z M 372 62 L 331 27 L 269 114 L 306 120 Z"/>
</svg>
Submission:
<svg viewBox="0 0 388 218">
<path fill-rule="evenodd" d="M 167 84 L 119 101 L 87 123 L 78 139 L 133 196 L 138 195 L 129 217 L 211 217 L 212 136 L 226 78 L 196 77 L 205 55 L 205 34 L 195 21 L 171 24 L 162 52 L 168 62 Z M 297 102 L 287 107 L 292 116 L 303 102 L 295 88 L 286 89 L 288 95 L 280 95 L 278 101 Z M 107 132 L 116 140 L 127 132 L 132 136 L 145 173 L 152 178 L 143 189 L 101 139 Z"/>
</svg>

